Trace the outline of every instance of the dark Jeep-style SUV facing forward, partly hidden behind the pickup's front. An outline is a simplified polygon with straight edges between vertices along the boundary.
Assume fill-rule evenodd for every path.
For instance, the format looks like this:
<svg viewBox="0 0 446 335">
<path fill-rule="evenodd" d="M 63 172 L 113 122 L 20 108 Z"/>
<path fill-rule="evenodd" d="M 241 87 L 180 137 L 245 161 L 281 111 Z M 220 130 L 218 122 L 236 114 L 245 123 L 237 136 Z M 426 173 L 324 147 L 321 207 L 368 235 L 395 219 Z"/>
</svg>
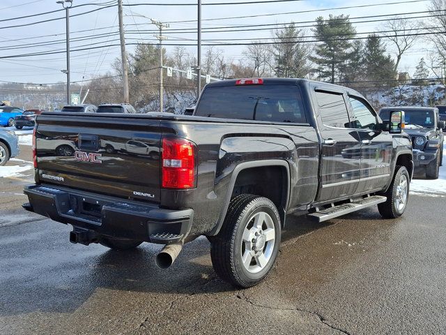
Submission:
<svg viewBox="0 0 446 335">
<path fill-rule="evenodd" d="M 415 172 L 425 172 L 429 179 L 437 179 L 443 164 L 443 140 L 445 121 L 440 121 L 436 107 L 385 107 L 380 117 L 389 121 L 389 112 L 403 110 L 406 126 L 404 132 L 410 135 L 415 161 Z"/>
</svg>

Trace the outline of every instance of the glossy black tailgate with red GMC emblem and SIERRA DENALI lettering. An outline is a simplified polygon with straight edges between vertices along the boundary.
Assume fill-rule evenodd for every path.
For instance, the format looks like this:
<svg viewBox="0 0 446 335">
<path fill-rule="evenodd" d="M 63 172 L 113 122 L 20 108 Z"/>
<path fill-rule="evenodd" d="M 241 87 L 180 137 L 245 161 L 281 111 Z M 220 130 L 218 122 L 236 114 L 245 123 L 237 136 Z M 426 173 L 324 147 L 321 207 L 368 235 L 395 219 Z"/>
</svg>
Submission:
<svg viewBox="0 0 446 335">
<path fill-rule="evenodd" d="M 37 119 L 41 183 L 126 199 L 160 201 L 160 121 L 104 114 Z"/>
</svg>

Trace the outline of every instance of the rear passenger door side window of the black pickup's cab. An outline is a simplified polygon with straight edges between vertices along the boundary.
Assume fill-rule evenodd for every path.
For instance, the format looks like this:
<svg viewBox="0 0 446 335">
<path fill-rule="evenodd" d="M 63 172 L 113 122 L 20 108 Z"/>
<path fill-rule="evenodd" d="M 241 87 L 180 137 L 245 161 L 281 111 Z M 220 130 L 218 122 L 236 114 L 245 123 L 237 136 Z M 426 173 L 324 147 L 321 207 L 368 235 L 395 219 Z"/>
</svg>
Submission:
<svg viewBox="0 0 446 335">
<path fill-rule="evenodd" d="M 333 128 L 351 128 L 347 106 L 342 94 L 316 91 L 319 112 L 324 126 Z"/>
</svg>

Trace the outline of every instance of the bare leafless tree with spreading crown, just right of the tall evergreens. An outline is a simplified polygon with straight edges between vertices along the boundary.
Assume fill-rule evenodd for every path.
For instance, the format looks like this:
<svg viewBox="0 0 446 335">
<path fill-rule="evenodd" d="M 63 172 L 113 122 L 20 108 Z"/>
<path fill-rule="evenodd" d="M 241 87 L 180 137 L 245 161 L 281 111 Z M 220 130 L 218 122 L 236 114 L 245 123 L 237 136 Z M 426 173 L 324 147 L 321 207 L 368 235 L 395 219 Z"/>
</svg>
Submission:
<svg viewBox="0 0 446 335">
<path fill-rule="evenodd" d="M 388 34 L 387 38 L 392 41 L 396 47 L 397 61 L 395 62 L 394 72 L 397 73 L 399 62 L 403 57 L 404 52 L 413 47 L 417 36 L 411 35 L 415 28 L 415 22 L 404 20 L 404 17 L 397 16 L 394 19 L 387 21 L 384 27 L 392 31 Z"/>
</svg>

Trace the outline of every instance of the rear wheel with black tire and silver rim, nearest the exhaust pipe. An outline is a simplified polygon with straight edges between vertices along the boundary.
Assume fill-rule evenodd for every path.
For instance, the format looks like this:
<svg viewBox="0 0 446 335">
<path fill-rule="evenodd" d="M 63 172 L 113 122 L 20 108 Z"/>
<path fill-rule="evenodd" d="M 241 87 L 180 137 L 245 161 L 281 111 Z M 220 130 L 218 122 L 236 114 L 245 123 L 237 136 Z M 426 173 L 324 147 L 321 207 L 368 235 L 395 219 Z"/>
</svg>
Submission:
<svg viewBox="0 0 446 335">
<path fill-rule="evenodd" d="M 248 242 L 243 241 L 245 229 L 248 232 L 256 230 L 254 227 L 255 218 L 257 216 L 267 218 L 265 214 L 268 214 L 266 220 L 269 225 L 269 228 L 266 229 L 274 228 L 268 235 L 272 237 L 274 234 L 274 240 L 265 238 L 266 235 L 263 235 L 263 232 L 266 230 L 263 230 L 263 227 L 266 227 L 267 221 L 261 221 L 260 234 L 256 232 L 255 237 L 251 234 L 248 235 L 254 237 L 252 240 L 253 249 L 247 248 L 246 243 Z M 252 228 L 248 228 L 251 224 Z M 215 272 L 222 280 L 241 288 L 249 288 L 260 283 L 268 276 L 275 264 L 277 253 L 279 253 L 280 234 L 279 212 L 271 200 L 257 195 L 238 195 L 229 204 L 220 232 L 210 239 L 210 258 Z M 263 236 L 262 240 L 260 240 L 260 235 Z M 254 251 L 254 249 L 256 250 Z M 243 254 L 245 253 L 247 253 L 245 259 L 249 262 L 245 262 L 246 265 L 243 265 Z M 251 256 L 252 253 L 256 253 L 257 256 Z M 261 262 L 256 258 L 259 255 L 265 257 L 263 258 L 266 261 L 263 263 L 264 266 L 261 266 Z M 252 273 L 255 269 L 249 271 L 251 267 L 259 269 L 259 271 Z"/>
</svg>

